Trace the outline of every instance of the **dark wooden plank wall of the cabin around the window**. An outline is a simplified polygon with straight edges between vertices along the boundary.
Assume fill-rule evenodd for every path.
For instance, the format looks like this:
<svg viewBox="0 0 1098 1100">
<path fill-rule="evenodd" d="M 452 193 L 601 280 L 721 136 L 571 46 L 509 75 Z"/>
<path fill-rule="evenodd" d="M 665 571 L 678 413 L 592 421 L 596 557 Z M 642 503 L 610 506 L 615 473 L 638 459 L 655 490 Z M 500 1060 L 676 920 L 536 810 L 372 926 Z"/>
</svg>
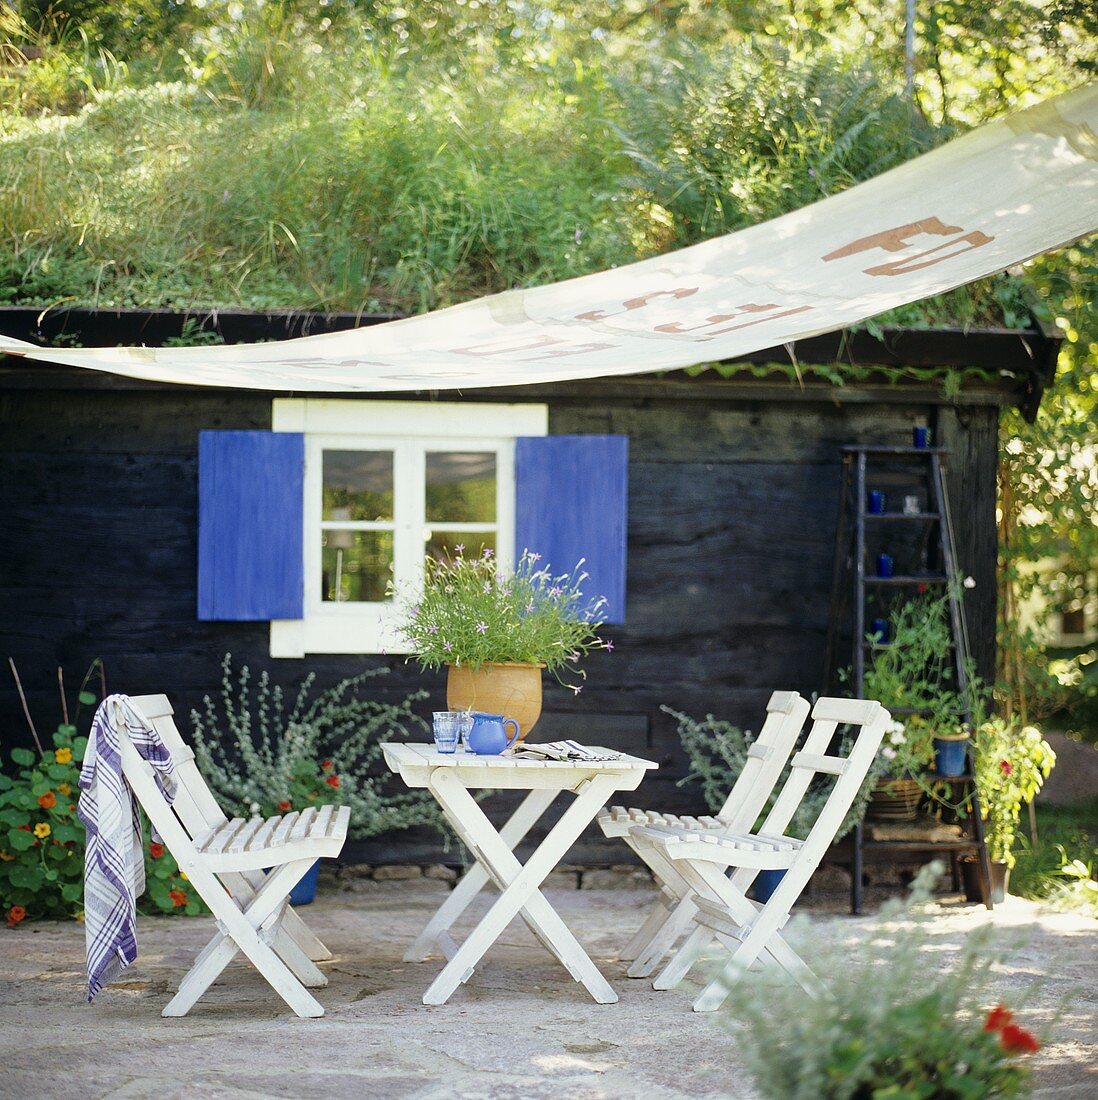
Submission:
<svg viewBox="0 0 1098 1100">
<path fill-rule="evenodd" d="M 525 391 L 510 399 L 547 399 Z M 483 399 L 483 397 L 474 399 Z M 995 464 L 988 405 L 783 403 L 743 399 L 734 384 L 705 400 L 626 392 L 592 400 L 558 387 L 553 432 L 623 432 L 630 441 L 627 624 L 613 654 L 589 663 L 581 696 L 547 685 L 539 736 L 650 755 L 660 770 L 632 804 L 700 810 L 680 788 L 685 761 L 661 704 L 757 728 L 773 689 L 825 691 L 825 641 L 839 448 L 903 442 L 912 416 L 936 420 L 955 450 L 951 488 L 959 557 L 977 580 L 970 627 L 993 661 Z M 267 428 L 268 395 L 52 391 L 0 394 L 0 637 L 28 686 L 39 729 L 58 719 L 55 669 L 70 685 L 102 656 L 108 685 L 167 692 L 184 715 L 219 685 L 229 650 L 294 684 L 321 684 L 384 659 L 274 661 L 264 625 L 199 623 L 196 603 L 197 435 Z M 431 691 L 442 676 L 389 659 L 378 694 Z M 29 741 L 7 670 L 0 751 Z M 182 723 L 186 728 L 187 723 Z M 360 858 L 437 858 L 429 835 L 354 846 Z M 451 854 L 448 858 L 455 858 Z M 618 861 L 624 848 L 585 839 L 572 858 Z"/>
</svg>

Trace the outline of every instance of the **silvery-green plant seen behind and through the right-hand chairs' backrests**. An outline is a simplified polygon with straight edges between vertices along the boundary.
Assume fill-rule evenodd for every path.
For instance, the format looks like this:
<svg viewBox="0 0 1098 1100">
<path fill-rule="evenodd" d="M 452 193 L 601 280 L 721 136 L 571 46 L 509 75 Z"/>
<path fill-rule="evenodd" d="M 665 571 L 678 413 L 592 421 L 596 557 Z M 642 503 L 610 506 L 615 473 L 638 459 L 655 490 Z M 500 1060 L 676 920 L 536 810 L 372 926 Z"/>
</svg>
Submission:
<svg viewBox="0 0 1098 1100">
<path fill-rule="evenodd" d="M 660 710 L 678 722 L 679 738 L 690 760 L 690 771 L 679 780 L 678 785 L 701 783 L 702 798 L 705 800 L 706 807 L 711 813 L 717 813 L 747 763 L 747 750 L 755 743 L 755 737 L 749 729 L 740 729 L 739 726 L 734 726 L 731 722 L 714 718 L 712 714 L 698 721 L 688 714 L 672 711 L 668 706 L 661 706 Z M 844 747 L 845 750 L 846 747 Z M 759 823 L 770 812 L 770 807 L 788 776 L 789 768 L 787 767 L 762 809 Z M 816 777 L 786 829 L 789 836 L 804 839 L 809 835 L 809 829 L 820 816 L 820 811 L 823 810 L 824 802 L 833 785 L 834 779 Z M 839 826 L 836 839 L 845 836 L 865 816 L 871 790 L 872 779 L 867 779 Z"/>
</svg>

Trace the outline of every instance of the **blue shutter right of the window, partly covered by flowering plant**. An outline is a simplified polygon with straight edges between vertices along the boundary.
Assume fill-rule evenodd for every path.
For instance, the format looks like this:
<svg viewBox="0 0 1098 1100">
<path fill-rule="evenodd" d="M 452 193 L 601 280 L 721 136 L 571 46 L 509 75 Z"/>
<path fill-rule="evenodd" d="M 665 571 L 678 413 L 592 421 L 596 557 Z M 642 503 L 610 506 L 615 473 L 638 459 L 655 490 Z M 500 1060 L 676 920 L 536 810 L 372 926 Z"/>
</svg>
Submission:
<svg viewBox="0 0 1098 1100">
<path fill-rule="evenodd" d="M 543 436 L 515 441 L 515 552 L 555 572 L 581 559 L 584 593 L 605 596 L 605 620 L 625 622 L 629 441 L 625 436 Z"/>
</svg>

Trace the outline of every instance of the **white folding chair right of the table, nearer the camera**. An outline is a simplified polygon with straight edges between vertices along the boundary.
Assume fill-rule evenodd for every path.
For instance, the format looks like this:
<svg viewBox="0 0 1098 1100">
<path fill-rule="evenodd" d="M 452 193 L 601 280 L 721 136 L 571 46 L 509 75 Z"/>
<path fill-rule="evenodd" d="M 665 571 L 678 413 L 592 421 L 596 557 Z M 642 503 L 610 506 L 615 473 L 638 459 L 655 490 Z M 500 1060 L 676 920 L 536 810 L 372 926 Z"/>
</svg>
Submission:
<svg viewBox="0 0 1098 1100">
<path fill-rule="evenodd" d="M 695 927 L 657 977 L 657 989 L 677 986 L 701 952 L 715 938 L 732 957 L 694 1001 L 695 1012 L 720 1008 L 733 982 L 760 957 L 778 963 L 810 993 L 820 982 L 782 938 L 781 928 L 813 871 L 831 846 L 869 772 L 891 715 L 868 700 L 821 698 L 812 708 L 813 725 L 804 747 L 793 755 L 789 778 L 762 827 L 742 835 L 713 829 L 640 826 L 633 832 L 638 848 L 669 860 L 691 891 Z M 839 725 L 857 727 L 847 756 L 827 750 Z M 809 784 L 817 773 L 837 777 L 808 837 L 784 835 Z M 735 868 L 729 878 L 727 871 Z M 746 890 L 760 870 L 784 870 L 769 901 L 749 901 Z"/>
</svg>

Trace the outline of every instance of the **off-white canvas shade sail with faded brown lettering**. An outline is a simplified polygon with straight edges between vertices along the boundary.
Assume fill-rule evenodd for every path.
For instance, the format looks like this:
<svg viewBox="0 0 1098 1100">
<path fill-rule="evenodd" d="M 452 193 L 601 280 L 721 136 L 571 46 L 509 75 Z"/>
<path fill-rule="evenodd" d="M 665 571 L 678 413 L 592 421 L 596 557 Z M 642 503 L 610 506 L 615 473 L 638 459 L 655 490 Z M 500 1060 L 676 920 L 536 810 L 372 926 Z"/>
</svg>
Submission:
<svg viewBox="0 0 1098 1100">
<path fill-rule="evenodd" d="M 0 352 L 133 378 L 298 392 L 471 389 L 734 359 L 1098 229 L 1098 84 L 792 213 L 613 271 L 279 343 Z"/>
</svg>

